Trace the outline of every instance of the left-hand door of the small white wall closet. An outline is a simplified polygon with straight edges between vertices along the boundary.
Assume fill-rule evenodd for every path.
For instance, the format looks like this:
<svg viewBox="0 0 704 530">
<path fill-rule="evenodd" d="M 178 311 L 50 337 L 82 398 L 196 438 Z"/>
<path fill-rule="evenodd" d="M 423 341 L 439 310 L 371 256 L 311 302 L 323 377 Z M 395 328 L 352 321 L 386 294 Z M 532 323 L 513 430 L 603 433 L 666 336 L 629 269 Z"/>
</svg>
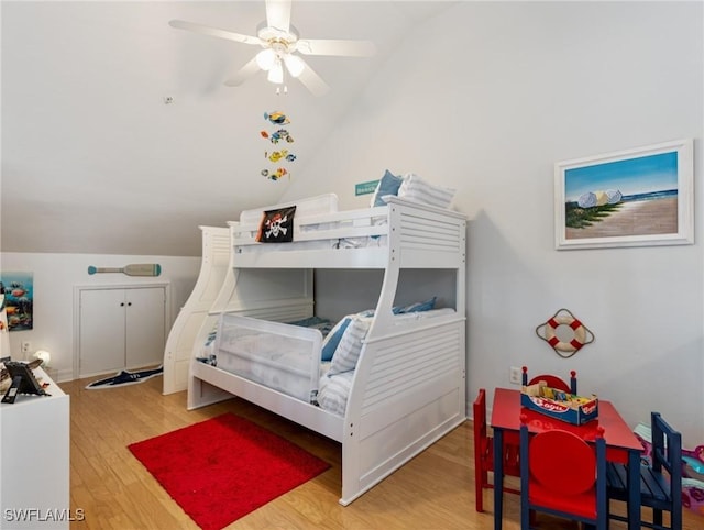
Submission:
<svg viewBox="0 0 704 530">
<path fill-rule="evenodd" d="M 124 367 L 124 309 L 123 289 L 80 292 L 81 376 Z"/>
</svg>

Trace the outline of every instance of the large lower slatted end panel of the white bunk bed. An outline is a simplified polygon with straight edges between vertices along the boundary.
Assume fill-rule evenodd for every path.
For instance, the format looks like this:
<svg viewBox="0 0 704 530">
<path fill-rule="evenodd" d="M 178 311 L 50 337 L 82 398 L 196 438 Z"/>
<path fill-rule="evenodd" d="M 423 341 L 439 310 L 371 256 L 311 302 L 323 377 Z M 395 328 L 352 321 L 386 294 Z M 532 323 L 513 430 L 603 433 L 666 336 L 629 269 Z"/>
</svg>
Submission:
<svg viewBox="0 0 704 530">
<path fill-rule="evenodd" d="M 464 319 L 370 341 L 345 415 L 348 505 L 465 419 Z M 358 405 L 359 401 L 359 405 Z"/>
</svg>

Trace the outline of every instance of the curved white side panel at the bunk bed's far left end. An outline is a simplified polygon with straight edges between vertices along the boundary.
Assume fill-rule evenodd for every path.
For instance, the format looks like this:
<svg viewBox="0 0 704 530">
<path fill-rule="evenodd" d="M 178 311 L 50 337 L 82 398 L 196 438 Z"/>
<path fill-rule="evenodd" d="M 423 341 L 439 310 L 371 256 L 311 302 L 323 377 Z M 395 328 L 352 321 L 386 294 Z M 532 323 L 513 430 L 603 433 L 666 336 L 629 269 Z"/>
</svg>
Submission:
<svg viewBox="0 0 704 530">
<path fill-rule="evenodd" d="M 164 389 L 173 394 L 188 388 L 188 367 L 194 345 L 202 344 L 202 329 L 211 329 L 217 317 L 209 311 L 226 280 L 230 265 L 230 229 L 199 227 L 202 232 L 200 273 L 188 300 L 178 312 L 164 349 Z M 198 349 L 199 351 L 199 349 Z"/>
</svg>

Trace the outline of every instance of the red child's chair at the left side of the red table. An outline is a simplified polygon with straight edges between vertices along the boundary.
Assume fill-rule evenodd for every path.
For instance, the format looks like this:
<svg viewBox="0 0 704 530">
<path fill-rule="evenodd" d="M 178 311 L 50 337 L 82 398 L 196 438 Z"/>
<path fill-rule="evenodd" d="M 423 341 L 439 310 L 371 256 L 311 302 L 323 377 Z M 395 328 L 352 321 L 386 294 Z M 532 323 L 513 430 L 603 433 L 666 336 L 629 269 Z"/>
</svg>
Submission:
<svg viewBox="0 0 704 530">
<path fill-rule="evenodd" d="M 486 427 L 486 390 L 480 388 L 474 400 L 474 489 L 476 496 L 476 511 L 484 511 L 484 489 L 492 489 L 494 485 L 488 482 L 488 473 L 494 471 L 494 439 L 488 435 Z M 515 443 L 504 440 L 504 474 L 520 476 L 518 462 L 519 448 Z M 494 478 L 496 479 L 496 478 Z M 520 494 L 515 488 L 504 488 L 504 492 Z"/>
</svg>

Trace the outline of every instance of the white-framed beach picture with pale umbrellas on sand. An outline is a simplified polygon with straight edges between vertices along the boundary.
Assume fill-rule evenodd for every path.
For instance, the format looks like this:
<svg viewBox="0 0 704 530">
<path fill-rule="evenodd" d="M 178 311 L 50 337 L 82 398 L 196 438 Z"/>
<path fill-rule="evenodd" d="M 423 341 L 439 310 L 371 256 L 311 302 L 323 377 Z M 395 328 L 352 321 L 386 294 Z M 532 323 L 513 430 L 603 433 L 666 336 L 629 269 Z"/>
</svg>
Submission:
<svg viewBox="0 0 704 530">
<path fill-rule="evenodd" d="M 693 141 L 554 165 L 556 249 L 694 243 Z"/>
</svg>

